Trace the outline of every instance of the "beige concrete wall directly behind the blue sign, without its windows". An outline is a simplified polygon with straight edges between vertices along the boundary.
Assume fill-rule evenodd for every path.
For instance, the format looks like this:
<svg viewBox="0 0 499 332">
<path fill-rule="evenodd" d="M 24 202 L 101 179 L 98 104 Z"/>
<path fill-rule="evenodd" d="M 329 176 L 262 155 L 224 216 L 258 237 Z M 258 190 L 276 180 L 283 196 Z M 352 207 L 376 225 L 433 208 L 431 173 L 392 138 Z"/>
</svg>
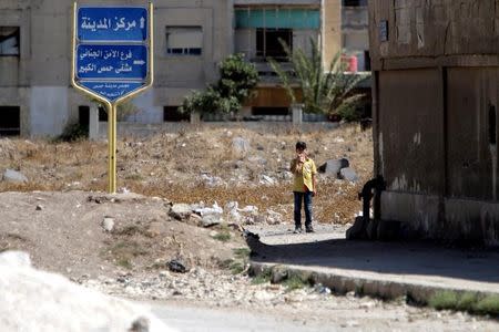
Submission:
<svg viewBox="0 0 499 332">
<path fill-rule="evenodd" d="M 79 4 L 102 6 L 102 1 Z M 21 41 L 19 56 L 0 56 L 0 106 L 20 106 L 23 136 L 58 135 L 78 121 L 79 105 L 90 105 L 70 86 L 72 6 L 72 0 L 0 1 L 0 25 L 20 27 Z M 162 122 L 164 105 L 180 105 L 191 90 L 216 80 L 217 64 L 233 52 L 232 12 L 228 0 L 154 1 L 155 83 L 135 100 L 141 110 L 138 121 Z M 166 25 L 202 27 L 202 55 L 166 54 Z"/>
</svg>

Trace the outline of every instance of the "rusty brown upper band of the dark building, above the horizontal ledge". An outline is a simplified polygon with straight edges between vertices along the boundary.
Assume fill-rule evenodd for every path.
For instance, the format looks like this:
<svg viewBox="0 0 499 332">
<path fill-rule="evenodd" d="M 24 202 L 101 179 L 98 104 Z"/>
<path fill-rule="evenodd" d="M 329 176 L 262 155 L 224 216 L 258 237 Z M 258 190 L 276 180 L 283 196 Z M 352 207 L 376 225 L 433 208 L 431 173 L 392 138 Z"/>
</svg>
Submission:
<svg viewBox="0 0 499 332">
<path fill-rule="evenodd" d="M 499 53 L 498 0 L 369 1 L 373 68 L 381 59 Z M 387 23 L 387 41 L 379 33 Z"/>
</svg>

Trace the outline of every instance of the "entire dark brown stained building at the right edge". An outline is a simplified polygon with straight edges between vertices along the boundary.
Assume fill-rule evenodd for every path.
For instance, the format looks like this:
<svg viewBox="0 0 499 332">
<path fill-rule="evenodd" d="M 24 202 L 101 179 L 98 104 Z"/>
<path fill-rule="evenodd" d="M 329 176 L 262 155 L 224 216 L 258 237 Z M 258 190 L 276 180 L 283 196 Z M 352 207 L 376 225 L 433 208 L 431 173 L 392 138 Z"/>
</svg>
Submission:
<svg viewBox="0 0 499 332">
<path fill-rule="evenodd" d="M 371 0 L 375 175 L 409 237 L 499 243 L 499 0 Z"/>
</svg>

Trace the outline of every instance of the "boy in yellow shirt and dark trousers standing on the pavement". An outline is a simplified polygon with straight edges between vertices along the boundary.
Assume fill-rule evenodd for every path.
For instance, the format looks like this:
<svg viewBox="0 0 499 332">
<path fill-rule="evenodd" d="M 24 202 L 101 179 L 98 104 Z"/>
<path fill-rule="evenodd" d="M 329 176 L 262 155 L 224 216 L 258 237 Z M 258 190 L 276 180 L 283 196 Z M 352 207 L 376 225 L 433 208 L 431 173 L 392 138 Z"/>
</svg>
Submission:
<svg viewBox="0 0 499 332">
<path fill-rule="evenodd" d="M 313 232 L 312 197 L 317 194 L 317 169 L 313 159 L 308 158 L 305 142 L 296 143 L 296 157 L 291 163 L 291 172 L 295 181 L 295 234 L 302 232 L 302 200 L 305 203 L 305 230 Z"/>
</svg>

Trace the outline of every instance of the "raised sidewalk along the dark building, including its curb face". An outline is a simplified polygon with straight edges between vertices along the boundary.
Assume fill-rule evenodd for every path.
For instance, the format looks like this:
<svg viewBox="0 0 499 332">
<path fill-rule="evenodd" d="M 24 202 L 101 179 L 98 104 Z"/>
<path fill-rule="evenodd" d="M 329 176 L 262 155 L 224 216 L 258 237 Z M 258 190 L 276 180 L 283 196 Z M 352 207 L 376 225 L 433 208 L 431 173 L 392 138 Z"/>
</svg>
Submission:
<svg viewBox="0 0 499 332">
<path fill-rule="evenodd" d="M 349 291 L 394 299 L 410 295 L 427 302 L 437 291 L 499 295 L 499 249 L 452 249 L 427 242 L 347 241 L 345 227 L 316 227 L 291 234 L 292 225 L 252 227 L 247 242 L 258 273 L 278 266 L 338 293 Z M 308 276 L 308 277 L 307 277 Z"/>
</svg>

